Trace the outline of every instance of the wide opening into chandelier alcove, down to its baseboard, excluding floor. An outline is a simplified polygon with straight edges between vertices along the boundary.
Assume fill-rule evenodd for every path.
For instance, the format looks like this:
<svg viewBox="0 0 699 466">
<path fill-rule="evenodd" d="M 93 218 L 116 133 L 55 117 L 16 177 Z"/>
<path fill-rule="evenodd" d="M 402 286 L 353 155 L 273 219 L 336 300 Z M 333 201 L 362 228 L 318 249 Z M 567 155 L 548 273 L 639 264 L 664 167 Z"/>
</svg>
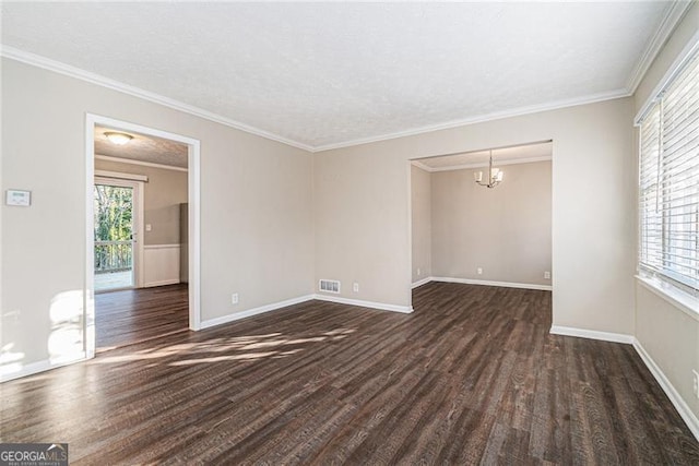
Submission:
<svg viewBox="0 0 699 466">
<path fill-rule="evenodd" d="M 411 160 L 412 288 L 552 290 L 553 141 Z"/>
</svg>

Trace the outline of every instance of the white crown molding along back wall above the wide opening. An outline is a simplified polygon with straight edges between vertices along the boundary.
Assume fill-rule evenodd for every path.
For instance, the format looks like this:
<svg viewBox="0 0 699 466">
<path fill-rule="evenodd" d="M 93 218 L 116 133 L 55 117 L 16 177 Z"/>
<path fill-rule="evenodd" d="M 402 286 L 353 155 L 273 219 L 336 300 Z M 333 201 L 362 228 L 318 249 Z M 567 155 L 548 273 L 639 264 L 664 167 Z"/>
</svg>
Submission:
<svg viewBox="0 0 699 466">
<path fill-rule="evenodd" d="M 389 133 L 380 136 L 363 138 L 363 139 L 345 141 L 336 144 L 319 145 L 319 146 L 315 146 L 312 152 L 333 151 L 336 148 L 345 148 L 345 147 L 352 147 L 355 145 L 369 144 L 374 142 L 413 136 L 417 134 L 429 133 L 433 131 L 450 130 L 453 128 L 464 127 L 467 124 L 484 123 L 486 121 L 501 120 L 505 118 L 512 118 L 512 117 L 521 117 L 524 115 L 540 113 L 542 111 L 558 110 L 558 109 L 568 108 L 568 107 L 577 107 L 579 105 L 594 104 L 594 103 L 604 101 L 604 100 L 614 100 L 617 98 L 629 97 L 630 95 L 631 94 L 626 88 L 620 88 L 620 89 L 609 91 L 605 93 L 591 94 L 583 97 L 556 100 L 548 104 L 531 105 L 531 106 L 519 107 L 519 108 L 513 108 L 509 110 L 494 111 L 491 113 L 483 113 L 475 117 L 464 118 L 462 120 L 453 120 L 446 123 L 430 124 L 426 127 L 414 128 L 412 130 L 398 131 L 394 133 Z"/>
</svg>

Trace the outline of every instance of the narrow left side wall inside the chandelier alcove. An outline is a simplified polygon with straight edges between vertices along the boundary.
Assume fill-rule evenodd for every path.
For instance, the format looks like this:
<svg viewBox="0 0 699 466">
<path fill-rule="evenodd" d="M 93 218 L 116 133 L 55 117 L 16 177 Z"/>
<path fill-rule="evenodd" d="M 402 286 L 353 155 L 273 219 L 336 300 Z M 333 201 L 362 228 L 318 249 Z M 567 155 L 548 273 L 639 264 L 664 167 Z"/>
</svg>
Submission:
<svg viewBox="0 0 699 466">
<path fill-rule="evenodd" d="M 413 283 L 433 274 L 431 176 L 411 167 L 411 208 L 413 242 Z"/>
</svg>

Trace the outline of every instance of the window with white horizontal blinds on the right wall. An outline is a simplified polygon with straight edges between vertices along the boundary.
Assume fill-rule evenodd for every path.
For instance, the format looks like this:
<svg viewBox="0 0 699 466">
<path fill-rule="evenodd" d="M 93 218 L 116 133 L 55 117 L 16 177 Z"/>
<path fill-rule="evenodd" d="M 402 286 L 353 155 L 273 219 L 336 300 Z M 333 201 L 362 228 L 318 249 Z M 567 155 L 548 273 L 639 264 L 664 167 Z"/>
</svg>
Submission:
<svg viewBox="0 0 699 466">
<path fill-rule="evenodd" d="M 639 122 L 639 272 L 699 297 L 699 52 Z"/>
</svg>

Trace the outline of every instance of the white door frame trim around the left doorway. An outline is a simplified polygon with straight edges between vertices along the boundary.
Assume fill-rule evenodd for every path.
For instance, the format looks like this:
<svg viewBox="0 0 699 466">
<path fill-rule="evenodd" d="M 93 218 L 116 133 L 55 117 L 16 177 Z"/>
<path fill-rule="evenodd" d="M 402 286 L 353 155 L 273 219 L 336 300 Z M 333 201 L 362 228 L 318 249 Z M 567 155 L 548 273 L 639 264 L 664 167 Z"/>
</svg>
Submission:
<svg viewBox="0 0 699 466">
<path fill-rule="evenodd" d="M 155 130 L 128 121 L 116 120 L 99 115 L 85 113 L 85 298 L 83 338 L 85 356 L 95 356 L 95 283 L 94 283 L 94 178 L 95 178 L 95 126 L 104 126 L 122 131 L 163 138 L 187 144 L 188 156 L 188 201 L 189 201 L 189 328 L 201 328 L 201 284 L 200 284 L 200 142 L 180 134 Z M 142 224 L 142 223 L 141 223 Z"/>
</svg>

